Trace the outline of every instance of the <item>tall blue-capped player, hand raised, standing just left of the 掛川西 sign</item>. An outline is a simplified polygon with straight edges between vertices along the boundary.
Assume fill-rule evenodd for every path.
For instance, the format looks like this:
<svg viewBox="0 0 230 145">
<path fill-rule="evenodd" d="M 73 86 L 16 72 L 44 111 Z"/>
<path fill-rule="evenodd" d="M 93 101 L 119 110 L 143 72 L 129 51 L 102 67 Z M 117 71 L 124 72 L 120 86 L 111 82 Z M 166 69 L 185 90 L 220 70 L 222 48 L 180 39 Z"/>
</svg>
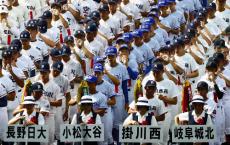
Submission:
<svg viewBox="0 0 230 145">
<path fill-rule="evenodd" d="M 105 51 L 107 56 L 108 63 L 105 64 L 105 74 L 106 80 L 114 85 L 116 97 L 116 105 L 114 106 L 113 113 L 116 115 L 114 119 L 114 140 L 118 141 L 118 128 L 119 125 L 124 121 L 126 116 L 126 110 L 128 108 L 128 89 L 127 89 L 127 80 L 129 79 L 128 71 L 123 64 L 117 62 L 117 48 L 108 47 Z"/>
</svg>

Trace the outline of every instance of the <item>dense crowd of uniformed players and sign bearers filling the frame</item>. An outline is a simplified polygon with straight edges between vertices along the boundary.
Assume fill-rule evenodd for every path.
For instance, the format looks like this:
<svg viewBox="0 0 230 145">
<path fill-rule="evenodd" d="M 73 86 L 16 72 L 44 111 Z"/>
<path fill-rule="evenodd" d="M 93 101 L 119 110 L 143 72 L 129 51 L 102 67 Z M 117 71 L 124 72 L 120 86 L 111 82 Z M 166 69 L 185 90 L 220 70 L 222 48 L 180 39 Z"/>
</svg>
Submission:
<svg viewBox="0 0 230 145">
<path fill-rule="evenodd" d="M 119 125 L 139 124 L 162 127 L 165 145 L 173 125 L 206 124 L 217 130 L 212 144 L 230 144 L 229 8 L 230 0 L 1 0 L 0 141 L 14 144 L 3 141 L 7 125 L 46 124 L 49 142 L 28 144 L 70 144 L 61 124 L 96 123 L 104 142 L 85 144 L 113 145 Z"/>
</svg>

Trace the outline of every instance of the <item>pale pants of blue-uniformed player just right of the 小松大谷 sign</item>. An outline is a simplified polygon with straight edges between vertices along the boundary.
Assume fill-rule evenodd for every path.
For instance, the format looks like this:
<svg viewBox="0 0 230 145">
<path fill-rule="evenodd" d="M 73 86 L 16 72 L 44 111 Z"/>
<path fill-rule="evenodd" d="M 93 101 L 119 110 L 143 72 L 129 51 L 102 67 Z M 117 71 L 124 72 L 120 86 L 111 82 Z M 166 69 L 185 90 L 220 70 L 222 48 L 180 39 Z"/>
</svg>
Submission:
<svg viewBox="0 0 230 145">
<path fill-rule="evenodd" d="M 113 114 L 111 107 L 106 110 L 107 113 L 103 117 L 101 117 L 101 121 L 104 124 L 104 142 L 100 142 L 100 145 L 108 145 L 113 143 L 113 135 L 112 130 L 113 128 Z"/>
</svg>

